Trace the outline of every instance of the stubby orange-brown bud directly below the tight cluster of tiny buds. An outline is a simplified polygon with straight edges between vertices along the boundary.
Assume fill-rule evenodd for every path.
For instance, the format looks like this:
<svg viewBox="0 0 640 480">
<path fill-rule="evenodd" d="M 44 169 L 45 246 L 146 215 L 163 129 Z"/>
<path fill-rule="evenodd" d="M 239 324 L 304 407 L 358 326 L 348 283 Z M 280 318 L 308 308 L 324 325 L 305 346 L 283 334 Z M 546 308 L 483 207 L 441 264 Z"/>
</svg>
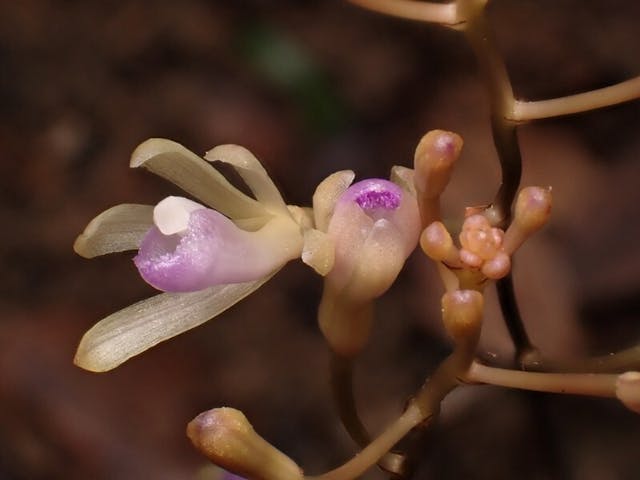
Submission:
<svg viewBox="0 0 640 480">
<path fill-rule="evenodd" d="M 476 290 L 455 290 L 442 296 L 444 328 L 456 343 L 477 339 L 483 308 L 484 298 Z"/>
</svg>

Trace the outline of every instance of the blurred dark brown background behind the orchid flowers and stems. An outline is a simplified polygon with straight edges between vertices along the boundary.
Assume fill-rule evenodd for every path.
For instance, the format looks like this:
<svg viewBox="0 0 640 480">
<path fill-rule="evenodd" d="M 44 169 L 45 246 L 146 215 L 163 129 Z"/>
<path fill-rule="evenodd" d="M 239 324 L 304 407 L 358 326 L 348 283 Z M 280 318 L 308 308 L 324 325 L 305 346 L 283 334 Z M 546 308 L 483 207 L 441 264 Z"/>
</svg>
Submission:
<svg viewBox="0 0 640 480">
<path fill-rule="evenodd" d="M 540 99 L 640 74 L 635 0 L 496 0 L 515 91 Z M 240 143 L 290 203 L 329 173 L 410 165 L 433 128 L 465 138 L 447 214 L 491 199 L 487 100 L 463 38 L 344 2 L 0 3 L 0 479 L 207 477 L 184 435 L 229 405 L 319 473 L 355 452 L 336 418 L 314 320 L 321 281 L 289 265 L 218 319 L 90 374 L 82 333 L 151 295 L 131 255 L 86 261 L 105 208 L 177 190 L 128 169 L 137 144 Z M 525 183 L 552 185 L 550 226 L 519 255 L 534 340 L 550 356 L 640 341 L 640 102 L 524 126 Z M 380 301 L 357 395 L 378 428 L 448 352 L 442 293 L 416 254 Z M 483 351 L 508 365 L 495 306 Z M 640 421 L 615 400 L 460 389 L 425 439 L 419 478 L 635 479 Z M 374 473 L 373 476 L 376 474 Z"/>
</svg>

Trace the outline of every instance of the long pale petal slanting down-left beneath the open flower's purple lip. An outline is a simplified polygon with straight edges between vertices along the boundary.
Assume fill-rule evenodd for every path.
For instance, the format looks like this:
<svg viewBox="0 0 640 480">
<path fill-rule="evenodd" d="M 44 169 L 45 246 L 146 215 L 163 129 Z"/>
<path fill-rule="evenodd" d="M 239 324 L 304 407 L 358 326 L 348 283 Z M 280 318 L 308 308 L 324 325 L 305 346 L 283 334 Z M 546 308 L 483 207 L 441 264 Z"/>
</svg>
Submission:
<svg viewBox="0 0 640 480">
<path fill-rule="evenodd" d="M 163 293 L 135 303 L 109 315 L 85 333 L 74 362 L 93 372 L 111 370 L 154 345 L 219 315 L 271 277 L 217 285 L 199 292 Z"/>
</svg>

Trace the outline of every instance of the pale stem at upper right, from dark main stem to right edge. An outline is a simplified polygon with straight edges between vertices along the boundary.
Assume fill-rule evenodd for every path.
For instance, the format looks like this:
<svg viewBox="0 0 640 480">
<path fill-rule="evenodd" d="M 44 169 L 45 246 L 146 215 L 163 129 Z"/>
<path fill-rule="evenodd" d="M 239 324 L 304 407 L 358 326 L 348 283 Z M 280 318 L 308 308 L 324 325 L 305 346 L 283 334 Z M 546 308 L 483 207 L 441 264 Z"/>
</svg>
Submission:
<svg viewBox="0 0 640 480">
<path fill-rule="evenodd" d="M 505 118 L 514 122 L 527 122 L 587 112 L 638 98 L 640 98 L 640 76 L 576 95 L 535 102 L 516 101 L 512 111 L 508 112 Z"/>
</svg>

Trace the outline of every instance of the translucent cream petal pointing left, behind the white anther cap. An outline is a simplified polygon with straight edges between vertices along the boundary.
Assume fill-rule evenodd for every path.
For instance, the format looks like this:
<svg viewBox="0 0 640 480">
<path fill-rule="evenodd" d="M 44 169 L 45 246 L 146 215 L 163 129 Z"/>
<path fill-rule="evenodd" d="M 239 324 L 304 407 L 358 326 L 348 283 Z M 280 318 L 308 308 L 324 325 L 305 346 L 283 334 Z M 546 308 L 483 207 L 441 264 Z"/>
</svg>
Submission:
<svg viewBox="0 0 640 480">
<path fill-rule="evenodd" d="M 73 249 L 85 258 L 136 250 L 152 226 L 151 205 L 116 205 L 89 222 L 76 238 Z"/>
</svg>

